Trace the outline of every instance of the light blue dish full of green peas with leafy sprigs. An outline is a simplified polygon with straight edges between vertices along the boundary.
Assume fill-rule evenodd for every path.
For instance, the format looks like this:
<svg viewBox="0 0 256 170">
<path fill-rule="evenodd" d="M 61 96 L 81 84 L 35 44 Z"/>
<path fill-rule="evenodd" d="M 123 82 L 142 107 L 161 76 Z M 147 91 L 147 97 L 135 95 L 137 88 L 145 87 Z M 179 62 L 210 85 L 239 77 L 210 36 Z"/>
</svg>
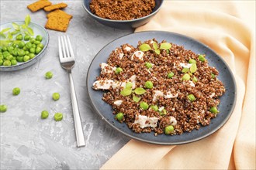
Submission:
<svg viewBox="0 0 256 170">
<path fill-rule="evenodd" d="M 0 71 L 21 70 L 36 63 L 44 54 L 49 34 L 42 26 L 25 21 L 0 26 Z"/>
</svg>

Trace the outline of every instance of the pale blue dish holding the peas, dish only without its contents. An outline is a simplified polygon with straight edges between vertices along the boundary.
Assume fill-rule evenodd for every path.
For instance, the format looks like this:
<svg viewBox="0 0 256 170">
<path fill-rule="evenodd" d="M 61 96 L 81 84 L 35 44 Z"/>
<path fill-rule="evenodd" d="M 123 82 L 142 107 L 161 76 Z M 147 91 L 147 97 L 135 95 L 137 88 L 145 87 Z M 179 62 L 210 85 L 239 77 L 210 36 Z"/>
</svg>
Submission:
<svg viewBox="0 0 256 170">
<path fill-rule="evenodd" d="M 12 22 L 16 22 L 17 24 L 21 25 L 24 23 L 24 21 L 12 21 Z M 6 22 L 1 24 L 0 26 L 0 30 L 5 29 L 5 28 L 12 28 L 12 22 Z M 29 59 L 26 62 L 23 63 L 17 63 L 17 65 L 15 66 L 0 66 L 0 71 L 14 71 L 14 70 L 21 70 L 24 69 L 28 66 L 33 65 L 34 63 L 36 63 L 36 61 L 38 61 L 42 56 L 44 56 L 47 46 L 48 46 L 48 42 L 49 42 L 49 34 L 47 32 L 47 29 L 44 29 L 42 26 L 30 22 L 29 23 L 29 27 L 33 29 L 34 32 L 34 37 L 36 37 L 37 35 L 40 35 L 43 37 L 43 40 L 41 43 L 43 43 L 43 49 L 42 51 L 37 54 L 33 59 Z"/>
</svg>

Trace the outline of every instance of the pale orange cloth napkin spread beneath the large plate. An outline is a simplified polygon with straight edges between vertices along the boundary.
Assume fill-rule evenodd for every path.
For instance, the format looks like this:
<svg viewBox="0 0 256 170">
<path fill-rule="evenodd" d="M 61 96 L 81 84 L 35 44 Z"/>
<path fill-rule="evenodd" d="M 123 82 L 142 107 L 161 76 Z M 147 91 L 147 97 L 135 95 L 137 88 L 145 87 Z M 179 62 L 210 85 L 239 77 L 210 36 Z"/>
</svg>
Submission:
<svg viewBox="0 0 256 170">
<path fill-rule="evenodd" d="M 101 169 L 256 169 L 255 1 L 164 1 L 136 32 L 146 30 L 191 36 L 222 56 L 237 81 L 237 104 L 207 138 L 186 145 L 131 140 Z"/>
</svg>

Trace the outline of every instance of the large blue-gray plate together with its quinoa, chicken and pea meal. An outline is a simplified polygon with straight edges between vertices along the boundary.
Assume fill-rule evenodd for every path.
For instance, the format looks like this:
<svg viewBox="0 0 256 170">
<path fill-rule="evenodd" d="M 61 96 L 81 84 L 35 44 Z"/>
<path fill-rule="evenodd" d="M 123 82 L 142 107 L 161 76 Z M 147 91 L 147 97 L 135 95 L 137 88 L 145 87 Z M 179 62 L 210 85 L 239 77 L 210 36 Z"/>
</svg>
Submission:
<svg viewBox="0 0 256 170">
<path fill-rule="evenodd" d="M 138 32 L 110 42 L 93 59 L 87 86 L 92 106 L 113 128 L 162 145 L 213 134 L 236 100 L 223 59 L 172 32 Z"/>
</svg>

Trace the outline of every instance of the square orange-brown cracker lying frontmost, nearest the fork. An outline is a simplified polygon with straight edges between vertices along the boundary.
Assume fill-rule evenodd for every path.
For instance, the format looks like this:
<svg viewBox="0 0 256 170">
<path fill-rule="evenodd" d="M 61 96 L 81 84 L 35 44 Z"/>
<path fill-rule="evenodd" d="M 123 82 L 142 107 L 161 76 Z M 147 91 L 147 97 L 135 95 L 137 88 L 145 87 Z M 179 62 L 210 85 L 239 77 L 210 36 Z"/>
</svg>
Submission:
<svg viewBox="0 0 256 170">
<path fill-rule="evenodd" d="M 51 16 L 48 18 L 45 28 L 66 32 L 70 20 L 61 16 Z"/>
</svg>

